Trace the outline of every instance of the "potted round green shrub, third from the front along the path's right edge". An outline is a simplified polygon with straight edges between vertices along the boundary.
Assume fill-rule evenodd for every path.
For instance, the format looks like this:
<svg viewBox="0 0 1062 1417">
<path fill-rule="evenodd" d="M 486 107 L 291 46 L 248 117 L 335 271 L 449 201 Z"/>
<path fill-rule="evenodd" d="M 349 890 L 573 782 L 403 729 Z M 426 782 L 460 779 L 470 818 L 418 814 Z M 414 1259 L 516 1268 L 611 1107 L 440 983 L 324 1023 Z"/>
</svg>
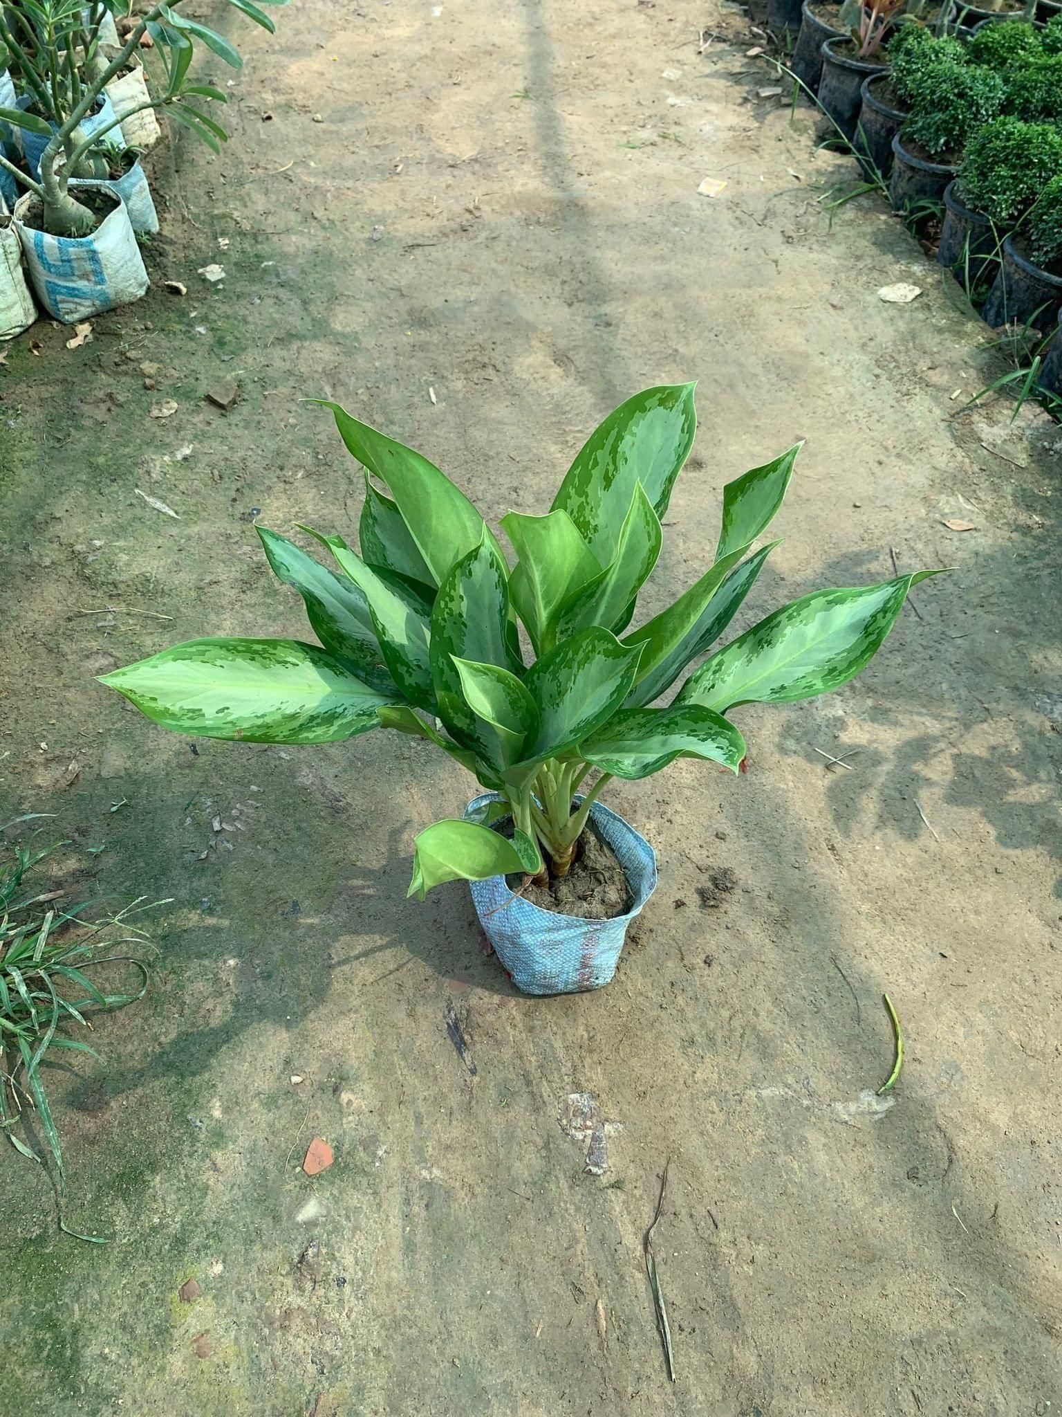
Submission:
<svg viewBox="0 0 1062 1417">
<path fill-rule="evenodd" d="M 892 139 L 896 211 L 943 197 L 966 143 L 1000 112 L 1005 94 L 1000 75 L 976 64 L 940 64 L 915 78 L 910 116 Z"/>
</svg>

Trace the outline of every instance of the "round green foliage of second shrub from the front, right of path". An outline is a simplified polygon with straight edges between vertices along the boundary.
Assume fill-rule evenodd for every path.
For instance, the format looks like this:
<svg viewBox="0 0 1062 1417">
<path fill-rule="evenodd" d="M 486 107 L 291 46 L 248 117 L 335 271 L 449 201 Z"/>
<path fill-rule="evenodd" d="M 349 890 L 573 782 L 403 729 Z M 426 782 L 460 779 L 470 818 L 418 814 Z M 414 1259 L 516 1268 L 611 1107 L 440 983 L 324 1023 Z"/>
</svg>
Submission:
<svg viewBox="0 0 1062 1417">
<path fill-rule="evenodd" d="M 967 145 L 959 196 L 976 211 L 1010 227 L 1061 171 L 1062 130 L 1054 123 L 997 118 Z"/>
</svg>

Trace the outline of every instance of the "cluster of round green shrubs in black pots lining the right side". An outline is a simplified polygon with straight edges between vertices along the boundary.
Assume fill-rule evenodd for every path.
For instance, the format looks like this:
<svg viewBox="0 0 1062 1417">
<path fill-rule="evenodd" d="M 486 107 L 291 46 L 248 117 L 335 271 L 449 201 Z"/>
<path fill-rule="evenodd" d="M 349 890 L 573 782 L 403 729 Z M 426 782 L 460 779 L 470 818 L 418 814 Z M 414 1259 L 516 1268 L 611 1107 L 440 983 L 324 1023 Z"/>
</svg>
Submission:
<svg viewBox="0 0 1062 1417">
<path fill-rule="evenodd" d="M 826 21 L 806 0 L 790 65 L 864 171 L 889 179 L 896 211 L 918 218 L 942 208 L 937 259 L 993 327 L 1046 333 L 1062 317 L 1062 7 L 1055 10 L 1046 23 L 997 14 L 971 28 L 944 16 L 933 33 L 903 16 L 882 24 L 875 9 L 869 37 L 867 24 L 820 38 Z M 1062 336 L 1039 383 L 1062 394 Z"/>
</svg>

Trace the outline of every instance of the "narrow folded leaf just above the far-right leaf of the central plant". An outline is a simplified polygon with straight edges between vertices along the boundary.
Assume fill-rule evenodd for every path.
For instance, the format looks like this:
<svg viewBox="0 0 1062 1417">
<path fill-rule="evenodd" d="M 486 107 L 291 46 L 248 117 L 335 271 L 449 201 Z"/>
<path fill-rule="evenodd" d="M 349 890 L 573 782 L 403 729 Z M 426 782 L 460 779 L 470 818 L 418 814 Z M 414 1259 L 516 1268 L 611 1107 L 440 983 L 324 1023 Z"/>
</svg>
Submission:
<svg viewBox="0 0 1062 1417">
<path fill-rule="evenodd" d="M 738 563 L 748 547 L 731 551 L 680 595 L 674 605 L 626 636 L 624 645 L 646 646 L 627 707 L 658 699 L 685 666 L 722 635 L 777 544 L 772 541 L 765 546 L 743 565 Z"/>
</svg>

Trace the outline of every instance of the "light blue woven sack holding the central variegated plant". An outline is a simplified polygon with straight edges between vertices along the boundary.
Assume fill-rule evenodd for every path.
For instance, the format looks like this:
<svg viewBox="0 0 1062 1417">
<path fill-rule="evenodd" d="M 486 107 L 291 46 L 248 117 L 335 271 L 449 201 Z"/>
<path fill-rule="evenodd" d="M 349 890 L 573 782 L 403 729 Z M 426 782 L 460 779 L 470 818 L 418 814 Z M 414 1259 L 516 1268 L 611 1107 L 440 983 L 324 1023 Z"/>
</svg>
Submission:
<svg viewBox="0 0 1062 1417">
<path fill-rule="evenodd" d="M 487 802 L 497 801 L 494 792 L 473 798 L 464 819 L 477 818 Z M 578 993 L 609 983 L 627 925 L 656 890 L 657 859 L 644 836 L 600 802 L 590 808 L 590 820 L 626 871 L 634 897 L 626 915 L 615 920 L 558 915 L 514 896 L 504 876 L 469 881 L 480 925 L 513 983 L 524 993 Z"/>
</svg>

